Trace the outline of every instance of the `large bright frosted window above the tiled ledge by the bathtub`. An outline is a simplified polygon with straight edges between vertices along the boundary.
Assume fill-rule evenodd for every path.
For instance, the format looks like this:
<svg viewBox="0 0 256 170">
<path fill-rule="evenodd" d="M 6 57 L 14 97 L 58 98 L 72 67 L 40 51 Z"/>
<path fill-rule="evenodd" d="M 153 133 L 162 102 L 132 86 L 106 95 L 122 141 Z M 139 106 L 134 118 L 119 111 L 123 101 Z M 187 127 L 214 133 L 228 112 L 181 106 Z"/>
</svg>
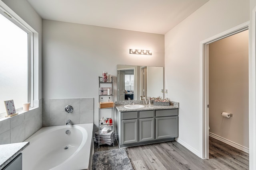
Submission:
<svg viewBox="0 0 256 170">
<path fill-rule="evenodd" d="M 3 117 L 5 100 L 14 100 L 16 111 L 22 110 L 22 103 L 32 102 L 32 32 L 2 11 L 0 25 L 0 117 Z"/>
</svg>

